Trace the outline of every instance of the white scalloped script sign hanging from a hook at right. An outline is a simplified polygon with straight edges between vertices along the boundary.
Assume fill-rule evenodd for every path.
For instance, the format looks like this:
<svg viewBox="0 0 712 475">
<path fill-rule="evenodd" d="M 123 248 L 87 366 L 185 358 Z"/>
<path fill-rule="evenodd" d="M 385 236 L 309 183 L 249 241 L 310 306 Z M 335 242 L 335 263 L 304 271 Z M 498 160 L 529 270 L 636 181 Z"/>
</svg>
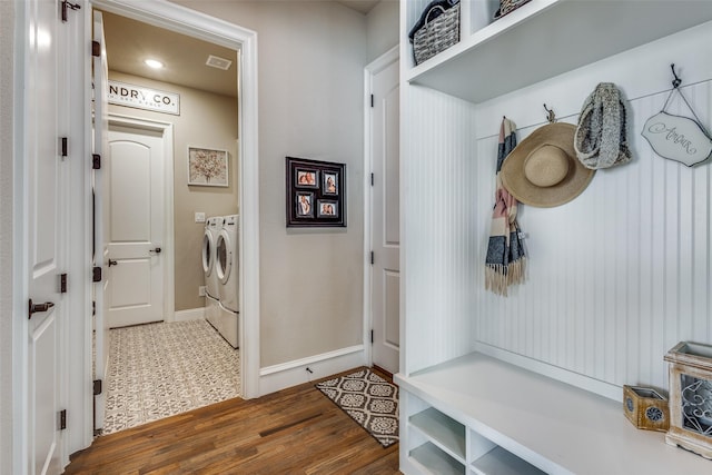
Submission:
<svg viewBox="0 0 712 475">
<path fill-rule="evenodd" d="M 688 167 L 706 160 L 712 154 L 712 139 L 688 117 L 659 112 L 645 122 L 643 137 L 655 154 Z"/>
</svg>

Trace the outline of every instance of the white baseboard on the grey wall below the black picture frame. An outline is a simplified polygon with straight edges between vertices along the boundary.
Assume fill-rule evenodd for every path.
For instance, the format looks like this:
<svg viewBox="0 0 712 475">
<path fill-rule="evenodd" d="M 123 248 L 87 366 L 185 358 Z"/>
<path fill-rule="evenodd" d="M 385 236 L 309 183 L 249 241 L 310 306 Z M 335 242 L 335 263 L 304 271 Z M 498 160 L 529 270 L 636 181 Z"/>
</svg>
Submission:
<svg viewBox="0 0 712 475">
<path fill-rule="evenodd" d="M 267 366 L 259 370 L 259 394 L 264 396 L 365 365 L 365 347 L 364 345 L 356 345 Z"/>
</svg>

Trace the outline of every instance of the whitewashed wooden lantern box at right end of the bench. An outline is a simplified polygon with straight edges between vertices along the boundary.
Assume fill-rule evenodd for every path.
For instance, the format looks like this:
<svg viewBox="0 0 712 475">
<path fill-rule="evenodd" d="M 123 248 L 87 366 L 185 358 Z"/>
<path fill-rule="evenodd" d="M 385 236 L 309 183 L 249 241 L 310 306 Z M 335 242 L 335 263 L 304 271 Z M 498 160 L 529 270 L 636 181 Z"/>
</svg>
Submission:
<svg viewBox="0 0 712 475">
<path fill-rule="evenodd" d="M 668 352 L 665 362 L 670 363 L 665 442 L 712 458 L 712 346 L 682 342 Z"/>
</svg>

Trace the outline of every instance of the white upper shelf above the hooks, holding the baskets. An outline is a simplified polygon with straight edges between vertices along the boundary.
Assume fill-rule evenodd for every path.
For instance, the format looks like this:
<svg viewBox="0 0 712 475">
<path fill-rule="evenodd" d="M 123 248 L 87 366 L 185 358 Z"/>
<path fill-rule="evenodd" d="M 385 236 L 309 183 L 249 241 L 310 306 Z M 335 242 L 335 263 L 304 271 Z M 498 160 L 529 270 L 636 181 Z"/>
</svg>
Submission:
<svg viewBox="0 0 712 475">
<path fill-rule="evenodd" d="M 532 0 L 406 80 L 478 103 L 711 20 L 710 0 Z"/>
</svg>

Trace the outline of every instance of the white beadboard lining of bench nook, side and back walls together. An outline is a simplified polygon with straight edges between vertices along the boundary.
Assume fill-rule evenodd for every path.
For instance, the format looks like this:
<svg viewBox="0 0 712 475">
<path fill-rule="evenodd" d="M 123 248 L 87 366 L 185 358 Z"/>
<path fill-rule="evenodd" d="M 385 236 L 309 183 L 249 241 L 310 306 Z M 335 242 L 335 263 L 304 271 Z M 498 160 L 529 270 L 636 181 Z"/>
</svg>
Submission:
<svg viewBox="0 0 712 475">
<path fill-rule="evenodd" d="M 678 342 L 712 343 L 712 164 L 663 159 L 641 136 L 668 97 L 672 62 L 712 127 L 712 49 L 700 48 L 710 34 L 712 23 L 695 27 L 481 105 L 404 85 L 403 372 L 481 349 L 620 397 L 623 384 L 666 388 L 663 356 Z M 544 123 L 542 102 L 575 123 L 603 81 L 630 98 L 633 161 L 599 171 L 564 206 L 522 206 L 528 279 L 506 298 L 486 291 L 502 115 L 520 141 Z M 691 115 L 679 98 L 668 110 Z"/>
</svg>

